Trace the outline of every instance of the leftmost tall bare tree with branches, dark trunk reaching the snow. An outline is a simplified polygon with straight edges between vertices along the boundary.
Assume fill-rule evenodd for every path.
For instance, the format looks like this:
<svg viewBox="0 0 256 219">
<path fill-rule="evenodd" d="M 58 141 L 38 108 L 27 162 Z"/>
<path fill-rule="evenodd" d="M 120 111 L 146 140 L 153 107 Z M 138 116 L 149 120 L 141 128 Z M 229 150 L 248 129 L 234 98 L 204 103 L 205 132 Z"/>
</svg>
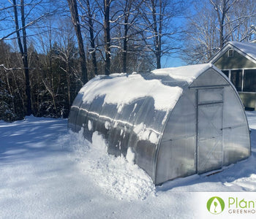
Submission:
<svg viewBox="0 0 256 219">
<path fill-rule="evenodd" d="M 47 5 L 47 7 L 45 7 Z M 53 9 L 53 4 L 51 9 Z M 0 29 L 0 40 L 12 40 L 15 39 L 18 42 L 18 52 L 16 53 L 17 60 L 21 61 L 19 68 L 22 66 L 23 86 L 25 87 L 25 92 L 20 95 L 24 96 L 22 99 L 26 99 L 25 104 L 25 114 L 31 115 L 32 109 L 32 99 L 31 99 L 31 67 L 29 66 L 28 60 L 28 42 L 35 36 L 34 27 L 36 24 L 40 23 L 44 18 L 53 12 L 49 9 L 49 4 L 47 1 L 35 0 L 35 1 L 25 1 L 25 0 L 11 0 L 1 3 L 1 15 L 0 21 L 1 26 L 4 28 Z M 54 9 L 53 9 L 54 10 Z M 9 16 L 7 16 L 9 15 Z M 16 35 L 16 36 L 15 36 Z M 11 69 L 15 69 L 15 66 L 11 66 Z M 16 68 L 17 69 L 17 68 Z M 16 71 L 16 70 L 15 70 Z M 17 73 L 17 72 L 15 72 Z M 21 85 L 19 85 L 21 87 Z"/>
</svg>

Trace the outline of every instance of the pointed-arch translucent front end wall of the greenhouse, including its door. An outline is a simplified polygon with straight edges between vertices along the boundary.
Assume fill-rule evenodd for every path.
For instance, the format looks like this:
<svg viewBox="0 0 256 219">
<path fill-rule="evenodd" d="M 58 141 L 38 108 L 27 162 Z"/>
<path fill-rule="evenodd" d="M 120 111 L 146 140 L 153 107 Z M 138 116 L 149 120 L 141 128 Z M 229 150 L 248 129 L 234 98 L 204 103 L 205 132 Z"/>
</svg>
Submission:
<svg viewBox="0 0 256 219">
<path fill-rule="evenodd" d="M 184 91 L 166 123 L 155 183 L 234 164 L 250 155 L 249 127 L 238 93 L 216 69 Z"/>
</svg>

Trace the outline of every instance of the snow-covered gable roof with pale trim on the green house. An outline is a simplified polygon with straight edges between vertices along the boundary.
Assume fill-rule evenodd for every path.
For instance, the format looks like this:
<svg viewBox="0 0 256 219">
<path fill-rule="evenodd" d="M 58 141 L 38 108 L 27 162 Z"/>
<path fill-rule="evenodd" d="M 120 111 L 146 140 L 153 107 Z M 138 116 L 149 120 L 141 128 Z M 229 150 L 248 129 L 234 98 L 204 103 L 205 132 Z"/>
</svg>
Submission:
<svg viewBox="0 0 256 219">
<path fill-rule="evenodd" d="M 256 43 L 255 42 L 236 42 L 230 41 L 219 51 L 213 58 L 209 61 L 210 63 L 214 63 L 219 59 L 223 53 L 225 53 L 228 49 L 236 50 L 241 55 L 244 55 L 249 60 L 256 63 Z"/>
</svg>

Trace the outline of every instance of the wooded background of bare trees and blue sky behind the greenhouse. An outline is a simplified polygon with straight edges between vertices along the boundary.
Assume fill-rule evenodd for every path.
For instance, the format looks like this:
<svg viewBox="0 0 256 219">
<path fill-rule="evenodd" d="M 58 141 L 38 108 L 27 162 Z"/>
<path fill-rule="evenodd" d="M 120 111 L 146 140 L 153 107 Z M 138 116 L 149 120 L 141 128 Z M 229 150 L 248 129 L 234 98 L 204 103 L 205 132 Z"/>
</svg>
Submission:
<svg viewBox="0 0 256 219">
<path fill-rule="evenodd" d="M 0 4 L 0 119 L 64 117 L 98 74 L 208 61 L 254 37 L 253 0 L 10 0 Z"/>
</svg>

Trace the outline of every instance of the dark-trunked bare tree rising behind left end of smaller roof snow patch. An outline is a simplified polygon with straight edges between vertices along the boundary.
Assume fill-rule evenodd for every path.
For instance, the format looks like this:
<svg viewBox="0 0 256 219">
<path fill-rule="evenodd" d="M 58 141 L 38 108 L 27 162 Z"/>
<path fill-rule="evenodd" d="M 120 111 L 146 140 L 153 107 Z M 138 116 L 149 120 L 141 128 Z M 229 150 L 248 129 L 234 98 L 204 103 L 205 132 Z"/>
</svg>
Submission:
<svg viewBox="0 0 256 219">
<path fill-rule="evenodd" d="M 150 0 L 141 7 L 145 22 L 143 39 L 148 50 L 156 57 L 157 69 L 161 68 L 162 55 L 173 53 L 180 48 L 178 45 L 179 28 L 175 18 L 186 13 L 186 1 Z M 189 4 L 189 1 L 187 1 Z"/>
</svg>

